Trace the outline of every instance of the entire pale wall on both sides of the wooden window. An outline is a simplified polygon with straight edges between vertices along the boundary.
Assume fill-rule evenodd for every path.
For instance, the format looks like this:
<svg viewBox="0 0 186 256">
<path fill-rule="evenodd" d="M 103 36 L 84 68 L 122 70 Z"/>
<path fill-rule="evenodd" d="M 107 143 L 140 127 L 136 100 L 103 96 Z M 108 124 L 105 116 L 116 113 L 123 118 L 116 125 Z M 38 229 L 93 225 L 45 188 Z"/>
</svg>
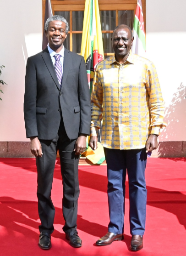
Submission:
<svg viewBox="0 0 186 256">
<path fill-rule="evenodd" d="M 146 0 L 147 55 L 157 68 L 168 126 L 160 141 L 186 141 L 186 0 Z M 0 141 L 27 141 L 25 63 L 42 48 L 42 0 L 0 0 Z"/>
</svg>

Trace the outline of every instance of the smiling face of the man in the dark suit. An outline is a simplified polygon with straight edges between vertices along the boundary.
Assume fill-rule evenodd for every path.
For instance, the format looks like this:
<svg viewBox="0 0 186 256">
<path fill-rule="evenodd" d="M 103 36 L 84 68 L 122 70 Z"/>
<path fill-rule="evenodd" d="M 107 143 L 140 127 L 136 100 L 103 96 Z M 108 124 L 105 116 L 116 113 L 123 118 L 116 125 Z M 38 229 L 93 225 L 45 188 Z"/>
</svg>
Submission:
<svg viewBox="0 0 186 256">
<path fill-rule="evenodd" d="M 49 47 L 54 51 L 60 51 L 67 36 L 66 24 L 59 20 L 51 21 L 45 35 L 49 40 Z"/>
</svg>

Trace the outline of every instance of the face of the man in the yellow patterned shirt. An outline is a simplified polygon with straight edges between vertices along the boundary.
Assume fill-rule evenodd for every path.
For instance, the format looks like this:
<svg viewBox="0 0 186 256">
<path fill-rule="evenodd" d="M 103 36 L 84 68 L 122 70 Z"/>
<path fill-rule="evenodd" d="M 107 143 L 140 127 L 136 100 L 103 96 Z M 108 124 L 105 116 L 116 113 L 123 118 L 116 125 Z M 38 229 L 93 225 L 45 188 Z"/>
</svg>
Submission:
<svg viewBox="0 0 186 256">
<path fill-rule="evenodd" d="M 133 44 L 133 39 L 128 28 L 121 27 L 116 29 L 112 38 L 112 47 L 115 51 L 115 56 L 119 59 L 128 56 Z"/>
</svg>

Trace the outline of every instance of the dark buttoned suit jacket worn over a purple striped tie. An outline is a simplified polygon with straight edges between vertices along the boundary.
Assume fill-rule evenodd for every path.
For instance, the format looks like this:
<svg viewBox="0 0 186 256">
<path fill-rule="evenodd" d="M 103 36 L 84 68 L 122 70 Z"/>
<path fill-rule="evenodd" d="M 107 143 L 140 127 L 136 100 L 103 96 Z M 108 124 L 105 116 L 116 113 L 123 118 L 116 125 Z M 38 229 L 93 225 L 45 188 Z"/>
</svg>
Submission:
<svg viewBox="0 0 186 256">
<path fill-rule="evenodd" d="M 24 118 L 27 137 L 52 140 L 60 126 L 60 111 L 66 134 L 90 134 L 90 91 L 84 58 L 64 51 L 60 85 L 48 49 L 29 57 L 25 76 Z"/>
</svg>

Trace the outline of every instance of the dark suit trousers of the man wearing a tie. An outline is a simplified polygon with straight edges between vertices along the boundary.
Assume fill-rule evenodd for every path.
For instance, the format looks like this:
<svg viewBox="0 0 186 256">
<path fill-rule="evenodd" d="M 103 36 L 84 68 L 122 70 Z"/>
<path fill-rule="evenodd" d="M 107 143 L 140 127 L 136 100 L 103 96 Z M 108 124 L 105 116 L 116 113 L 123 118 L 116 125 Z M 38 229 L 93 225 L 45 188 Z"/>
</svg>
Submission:
<svg viewBox="0 0 186 256">
<path fill-rule="evenodd" d="M 39 231 L 54 231 L 55 207 L 51 200 L 51 189 L 54 176 L 57 150 L 60 155 L 60 167 L 63 184 L 62 210 L 65 219 L 63 230 L 69 235 L 77 229 L 77 200 L 79 197 L 78 163 L 79 156 L 73 151 L 75 140 L 70 140 L 61 118 L 58 134 L 55 139 L 40 140 L 42 157 L 36 157 L 38 171 L 38 214 L 41 220 Z"/>
</svg>

